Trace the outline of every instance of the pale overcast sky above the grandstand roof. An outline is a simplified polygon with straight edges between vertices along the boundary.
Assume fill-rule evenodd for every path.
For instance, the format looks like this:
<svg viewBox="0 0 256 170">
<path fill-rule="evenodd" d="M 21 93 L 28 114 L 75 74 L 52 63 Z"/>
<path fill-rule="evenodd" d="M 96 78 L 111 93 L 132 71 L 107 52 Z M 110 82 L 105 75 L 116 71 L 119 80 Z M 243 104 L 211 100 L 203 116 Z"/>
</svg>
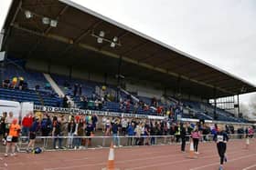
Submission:
<svg viewBox="0 0 256 170">
<path fill-rule="evenodd" d="M 10 1 L 1 1 L 1 27 Z M 73 1 L 256 85 L 255 0 Z"/>
</svg>

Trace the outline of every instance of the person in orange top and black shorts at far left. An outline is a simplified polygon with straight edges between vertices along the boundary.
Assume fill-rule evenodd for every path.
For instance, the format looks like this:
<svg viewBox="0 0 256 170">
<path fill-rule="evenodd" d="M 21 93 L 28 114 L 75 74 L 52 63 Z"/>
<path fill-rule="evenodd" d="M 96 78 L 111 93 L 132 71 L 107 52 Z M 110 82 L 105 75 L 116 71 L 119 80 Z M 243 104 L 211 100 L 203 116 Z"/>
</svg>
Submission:
<svg viewBox="0 0 256 170">
<path fill-rule="evenodd" d="M 15 118 L 12 124 L 9 126 L 9 132 L 6 137 L 7 145 L 5 147 L 5 156 L 8 156 L 8 152 L 11 148 L 11 155 L 16 155 L 16 143 L 20 133 L 21 127 L 17 124 L 17 119 Z"/>
</svg>

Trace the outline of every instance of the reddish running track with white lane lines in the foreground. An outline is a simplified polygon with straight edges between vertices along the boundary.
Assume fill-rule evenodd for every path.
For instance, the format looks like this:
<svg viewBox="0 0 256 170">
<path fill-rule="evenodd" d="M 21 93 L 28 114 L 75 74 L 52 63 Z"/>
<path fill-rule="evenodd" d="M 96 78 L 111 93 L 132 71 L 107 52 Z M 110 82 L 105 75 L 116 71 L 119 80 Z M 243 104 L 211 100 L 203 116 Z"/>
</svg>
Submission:
<svg viewBox="0 0 256 170">
<path fill-rule="evenodd" d="M 187 145 L 187 150 L 189 146 Z M 180 152 L 180 145 L 125 147 L 115 149 L 115 167 L 120 170 L 216 170 L 219 155 L 216 144 L 200 143 L 197 159 L 187 158 Z M 39 155 L 19 154 L 15 157 L 1 155 L 0 170 L 101 170 L 106 167 L 109 149 L 83 151 L 44 152 Z M 228 144 L 228 163 L 225 170 L 256 170 L 256 141 L 250 149 L 245 141 Z M 7 166 L 6 166 L 7 165 Z"/>
</svg>

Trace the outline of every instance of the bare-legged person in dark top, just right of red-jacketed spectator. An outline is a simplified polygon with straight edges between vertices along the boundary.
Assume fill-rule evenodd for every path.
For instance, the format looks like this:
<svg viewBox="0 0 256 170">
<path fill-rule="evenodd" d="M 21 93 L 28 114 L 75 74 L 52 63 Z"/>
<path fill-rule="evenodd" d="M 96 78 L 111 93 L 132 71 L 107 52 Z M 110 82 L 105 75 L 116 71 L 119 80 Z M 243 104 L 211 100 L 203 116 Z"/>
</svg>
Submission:
<svg viewBox="0 0 256 170">
<path fill-rule="evenodd" d="M 29 153 L 30 147 L 34 149 L 35 147 L 35 141 L 36 141 L 36 134 L 39 127 L 39 117 L 35 117 L 33 124 L 31 125 L 29 129 L 29 143 L 27 145 L 27 153 Z"/>
</svg>

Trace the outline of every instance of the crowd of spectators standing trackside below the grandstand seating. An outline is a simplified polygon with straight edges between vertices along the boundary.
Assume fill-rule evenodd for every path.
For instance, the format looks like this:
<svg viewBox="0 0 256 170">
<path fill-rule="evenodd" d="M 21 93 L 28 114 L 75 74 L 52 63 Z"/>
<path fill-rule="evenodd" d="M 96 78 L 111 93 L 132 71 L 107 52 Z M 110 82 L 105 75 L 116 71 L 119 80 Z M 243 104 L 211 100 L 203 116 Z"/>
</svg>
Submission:
<svg viewBox="0 0 256 170">
<path fill-rule="evenodd" d="M 3 113 L 0 122 L 0 133 L 3 145 L 6 145 L 6 136 L 10 125 L 14 122 L 12 112 Z M 101 122 L 101 125 L 98 123 Z M 125 117 L 103 116 L 101 120 L 97 115 L 48 115 L 29 113 L 23 117 L 21 123 L 22 142 L 27 143 L 27 152 L 37 145 L 36 136 L 52 136 L 52 148 L 79 149 L 91 146 L 93 135 L 105 135 L 112 138 L 115 146 L 123 145 L 155 145 L 156 137 L 161 136 L 163 143 L 182 143 L 189 140 L 192 135 L 195 141 L 213 140 L 212 136 L 218 132 L 217 125 L 209 126 L 204 123 L 179 123 L 168 118 L 164 120 L 133 119 Z M 254 131 L 251 126 L 236 131 L 233 125 L 226 125 L 228 135 L 242 133 L 252 137 Z M 168 138 L 165 137 L 168 135 Z M 67 140 L 62 136 L 68 136 Z M 87 136 L 87 138 L 82 137 Z M 120 136 L 126 136 L 122 141 Z M 201 137 L 202 136 L 202 137 Z M 123 140 L 123 138 L 122 138 Z M 48 147 L 48 140 L 43 140 Z"/>
</svg>

